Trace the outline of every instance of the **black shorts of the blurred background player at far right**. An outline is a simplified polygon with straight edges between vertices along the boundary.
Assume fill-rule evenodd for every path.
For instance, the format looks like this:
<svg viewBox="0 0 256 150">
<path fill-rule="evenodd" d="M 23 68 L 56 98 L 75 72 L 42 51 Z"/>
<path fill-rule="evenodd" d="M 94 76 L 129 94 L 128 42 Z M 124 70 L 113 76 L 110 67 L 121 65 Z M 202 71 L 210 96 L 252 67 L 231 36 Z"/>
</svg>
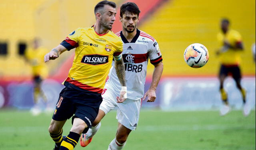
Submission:
<svg viewBox="0 0 256 150">
<path fill-rule="evenodd" d="M 237 81 L 241 79 L 241 72 L 240 72 L 240 68 L 238 65 L 234 65 L 234 66 L 226 66 L 226 65 L 221 65 L 220 67 L 220 74 L 221 75 L 232 75 L 232 77 Z"/>
</svg>

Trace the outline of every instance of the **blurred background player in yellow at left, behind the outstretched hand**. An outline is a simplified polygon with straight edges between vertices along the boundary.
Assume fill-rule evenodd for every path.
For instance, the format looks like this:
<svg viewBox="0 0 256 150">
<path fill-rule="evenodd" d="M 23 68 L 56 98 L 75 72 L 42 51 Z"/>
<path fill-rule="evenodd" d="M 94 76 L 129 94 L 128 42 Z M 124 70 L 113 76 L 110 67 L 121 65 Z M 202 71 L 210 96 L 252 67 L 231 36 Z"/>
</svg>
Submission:
<svg viewBox="0 0 256 150">
<path fill-rule="evenodd" d="M 34 38 L 32 46 L 25 51 L 25 60 L 32 67 L 32 76 L 34 80 L 34 107 L 31 109 L 32 114 L 37 115 L 41 112 L 38 105 L 40 98 L 47 102 L 47 98 L 41 88 L 41 83 L 48 75 L 48 68 L 44 63 L 44 54 L 47 49 L 40 46 L 40 39 Z"/>
</svg>

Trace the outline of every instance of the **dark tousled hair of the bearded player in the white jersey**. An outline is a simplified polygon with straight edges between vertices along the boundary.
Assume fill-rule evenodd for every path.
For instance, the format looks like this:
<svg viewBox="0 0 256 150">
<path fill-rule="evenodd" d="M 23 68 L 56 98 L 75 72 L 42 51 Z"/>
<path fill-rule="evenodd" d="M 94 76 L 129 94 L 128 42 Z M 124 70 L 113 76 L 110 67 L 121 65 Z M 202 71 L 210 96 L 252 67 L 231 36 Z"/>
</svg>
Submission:
<svg viewBox="0 0 256 150">
<path fill-rule="evenodd" d="M 122 4 L 122 6 L 120 7 L 120 16 L 123 17 L 123 14 L 126 13 L 138 15 L 139 17 L 140 9 L 135 3 L 127 2 L 125 4 Z"/>
</svg>

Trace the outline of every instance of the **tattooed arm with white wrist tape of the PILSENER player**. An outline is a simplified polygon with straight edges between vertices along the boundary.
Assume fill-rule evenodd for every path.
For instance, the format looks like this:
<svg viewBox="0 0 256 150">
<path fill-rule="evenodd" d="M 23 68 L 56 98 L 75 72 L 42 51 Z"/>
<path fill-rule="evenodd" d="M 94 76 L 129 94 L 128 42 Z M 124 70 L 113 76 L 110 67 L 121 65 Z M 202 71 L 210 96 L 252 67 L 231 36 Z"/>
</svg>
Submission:
<svg viewBox="0 0 256 150">
<path fill-rule="evenodd" d="M 125 81 L 125 67 L 124 67 L 124 61 L 122 59 L 122 54 L 121 56 L 116 59 L 115 57 L 115 68 L 116 68 L 116 74 L 117 77 L 120 81 L 120 84 L 122 86 L 121 92 L 120 92 L 120 97 L 116 97 L 117 103 L 123 103 L 126 98 L 127 98 L 127 88 L 126 88 L 126 81 Z"/>
</svg>

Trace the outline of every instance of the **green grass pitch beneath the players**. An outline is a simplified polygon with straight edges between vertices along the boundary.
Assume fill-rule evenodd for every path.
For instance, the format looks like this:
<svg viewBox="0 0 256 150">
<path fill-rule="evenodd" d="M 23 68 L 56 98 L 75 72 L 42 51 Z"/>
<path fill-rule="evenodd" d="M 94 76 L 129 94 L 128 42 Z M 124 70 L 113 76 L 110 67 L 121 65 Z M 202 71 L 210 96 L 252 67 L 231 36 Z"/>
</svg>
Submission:
<svg viewBox="0 0 256 150">
<path fill-rule="evenodd" d="M 92 143 L 75 150 L 107 150 L 116 133 L 116 112 L 110 112 Z M 0 150 L 52 150 L 48 134 L 51 114 L 0 109 Z M 64 126 L 67 135 L 71 127 Z M 163 112 L 142 110 L 137 130 L 124 150 L 255 150 L 255 111 L 219 116 L 218 111 Z"/>
</svg>

